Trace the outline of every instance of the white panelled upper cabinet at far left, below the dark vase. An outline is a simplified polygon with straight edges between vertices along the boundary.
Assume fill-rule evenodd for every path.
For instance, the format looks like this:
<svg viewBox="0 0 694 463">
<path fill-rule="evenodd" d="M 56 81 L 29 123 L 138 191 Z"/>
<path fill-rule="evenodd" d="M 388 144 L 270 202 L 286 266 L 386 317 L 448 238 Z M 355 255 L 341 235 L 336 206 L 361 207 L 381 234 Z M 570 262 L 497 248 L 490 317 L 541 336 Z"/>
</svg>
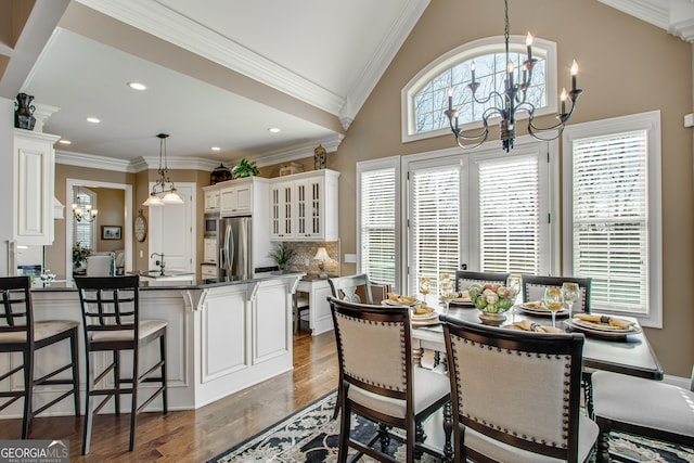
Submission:
<svg viewBox="0 0 694 463">
<path fill-rule="evenodd" d="M 55 151 L 60 139 L 14 129 L 14 240 L 20 245 L 53 243 L 53 184 Z"/>
</svg>

